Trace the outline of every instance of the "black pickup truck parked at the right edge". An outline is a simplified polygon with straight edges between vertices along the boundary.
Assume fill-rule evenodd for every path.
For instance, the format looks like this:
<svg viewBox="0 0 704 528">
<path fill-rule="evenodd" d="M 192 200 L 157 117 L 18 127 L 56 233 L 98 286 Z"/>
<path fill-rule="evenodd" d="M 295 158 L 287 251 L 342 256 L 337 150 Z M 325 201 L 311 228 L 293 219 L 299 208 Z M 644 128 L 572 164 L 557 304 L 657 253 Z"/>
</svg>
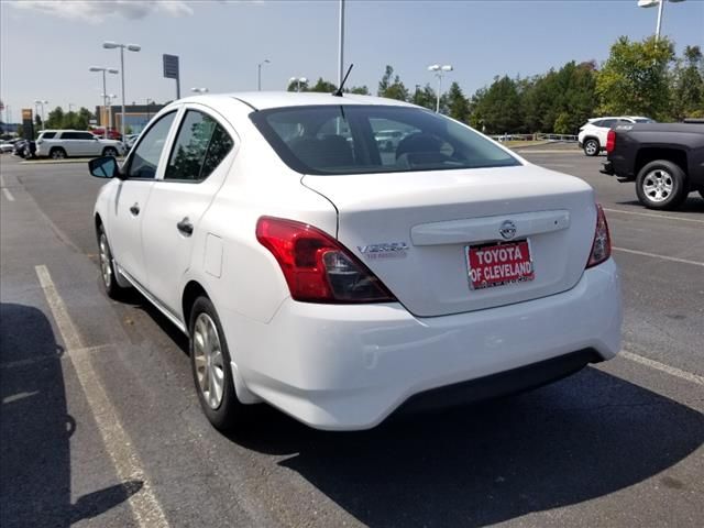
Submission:
<svg viewBox="0 0 704 528">
<path fill-rule="evenodd" d="M 704 123 L 619 124 L 608 131 L 602 173 L 636 180 L 640 202 L 676 209 L 692 191 L 704 198 Z"/>
</svg>

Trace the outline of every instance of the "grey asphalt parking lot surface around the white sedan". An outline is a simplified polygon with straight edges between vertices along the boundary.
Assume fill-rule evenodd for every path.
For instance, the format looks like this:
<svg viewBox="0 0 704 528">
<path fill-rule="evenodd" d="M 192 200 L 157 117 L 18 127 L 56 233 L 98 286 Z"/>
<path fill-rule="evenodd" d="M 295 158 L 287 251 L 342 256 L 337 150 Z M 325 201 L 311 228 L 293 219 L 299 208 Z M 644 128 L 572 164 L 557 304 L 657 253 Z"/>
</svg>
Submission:
<svg viewBox="0 0 704 528">
<path fill-rule="evenodd" d="M 619 358 L 371 431 L 263 408 L 233 436 L 202 416 L 178 330 L 138 295 L 101 293 L 101 182 L 3 155 L 0 525 L 704 526 L 704 199 L 649 211 L 601 157 L 524 155 L 586 180 L 606 210 Z"/>
</svg>

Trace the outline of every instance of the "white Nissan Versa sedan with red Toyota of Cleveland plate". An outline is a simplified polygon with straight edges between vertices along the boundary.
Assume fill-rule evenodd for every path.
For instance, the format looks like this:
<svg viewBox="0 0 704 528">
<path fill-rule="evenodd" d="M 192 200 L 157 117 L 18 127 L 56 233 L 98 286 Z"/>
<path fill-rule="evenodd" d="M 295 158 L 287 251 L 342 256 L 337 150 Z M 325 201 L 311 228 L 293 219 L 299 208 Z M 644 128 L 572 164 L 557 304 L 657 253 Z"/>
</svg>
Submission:
<svg viewBox="0 0 704 528">
<path fill-rule="evenodd" d="M 392 152 L 375 132 L 404 131 Z M 95 208 L 107 293 L 189 337 L 220 429 L 266 402 L 320 429 L 506 394 L 620 348 L 604 212 L 584 182 L 451 119 L 344 95 L 207 95 L 140 135 Z M 460 395 L 458 398 L 457 395 Z"/>
</svg>

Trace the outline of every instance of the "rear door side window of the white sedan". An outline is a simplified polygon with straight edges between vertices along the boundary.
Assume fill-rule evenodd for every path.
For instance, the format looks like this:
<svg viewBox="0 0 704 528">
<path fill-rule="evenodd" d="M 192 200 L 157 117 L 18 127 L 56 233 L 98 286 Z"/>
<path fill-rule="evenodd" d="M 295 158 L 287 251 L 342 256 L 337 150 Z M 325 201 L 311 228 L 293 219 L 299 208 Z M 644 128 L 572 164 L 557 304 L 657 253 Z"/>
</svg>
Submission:
<svg viewBox="0 0 704 528">
<path fill-rule="evenodd" d="M 164 179 L 198 182 L 228 155 L 232 138 L 210 116 L 188 110 L 178 130 Z"/>
</svg>

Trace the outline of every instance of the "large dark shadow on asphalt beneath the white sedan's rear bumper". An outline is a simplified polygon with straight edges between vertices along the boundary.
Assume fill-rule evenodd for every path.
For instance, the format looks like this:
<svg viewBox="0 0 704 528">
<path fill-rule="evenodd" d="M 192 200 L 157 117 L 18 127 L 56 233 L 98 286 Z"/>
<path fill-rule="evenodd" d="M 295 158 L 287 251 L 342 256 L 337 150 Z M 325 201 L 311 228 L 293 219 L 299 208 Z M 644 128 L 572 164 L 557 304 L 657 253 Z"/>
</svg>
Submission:
<svg viewBox="0 0 704 528">
<path fill-rule="evenodd" d="M 370 431 L 315 431 L 268 408 L 253 426 L 232 441 L 290 454 L 283 466 L 372 527 L 488 526 L 651 477 L 674 493 L 701 484 L 667 470 L 704 442 L 704 416 L 594 367 Z"/>
</svg>

